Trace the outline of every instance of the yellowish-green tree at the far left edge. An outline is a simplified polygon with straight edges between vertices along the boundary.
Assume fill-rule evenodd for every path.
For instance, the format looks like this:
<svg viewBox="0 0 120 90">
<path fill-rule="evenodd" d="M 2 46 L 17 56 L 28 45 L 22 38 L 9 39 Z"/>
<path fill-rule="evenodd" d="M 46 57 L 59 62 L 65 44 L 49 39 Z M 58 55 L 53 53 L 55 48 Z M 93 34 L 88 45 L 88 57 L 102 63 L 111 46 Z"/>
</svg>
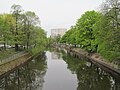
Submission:
<svg viewBox="0 0 120 90">
<path fill-rule="evenodd" d="M 0 15 L 0 36 L 1 36 L 1 43 L 4 44 L 4 49 L 6 49 L 6 44 L 12 44 L 13 42 L 13 30 L 15 19 L 12 17 L 11 14 L 2 14 Z"/>
</svg>

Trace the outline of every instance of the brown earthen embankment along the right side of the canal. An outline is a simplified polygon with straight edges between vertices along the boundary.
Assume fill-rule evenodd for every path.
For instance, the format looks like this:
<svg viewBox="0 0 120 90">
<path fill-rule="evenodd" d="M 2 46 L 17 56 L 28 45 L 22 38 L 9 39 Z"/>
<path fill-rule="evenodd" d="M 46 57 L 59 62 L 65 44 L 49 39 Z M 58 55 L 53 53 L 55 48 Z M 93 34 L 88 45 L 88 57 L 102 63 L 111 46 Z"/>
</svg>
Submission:
<svg viewBox="0 0 120 90">
<path fill-rule="evenodd" d="M 103 68 L 104 70 L 108 71 L 110 74 L 120 76 L 119 66 L 112 62 L 108 62 L 98 53 L 89 53 L 80 48 L 71 48 L 70 46 L 67 46 L 67 45 L 54 45 L 54 46 L 60 47 L 60 48 L 65 48 L 68 52 L 72 52 L 72 53 L 76 54 L 77 56 L 81 56 L 81 55 L 85 56 L 92 63 L 94 63 L 98 67 Z"/>
</svg>

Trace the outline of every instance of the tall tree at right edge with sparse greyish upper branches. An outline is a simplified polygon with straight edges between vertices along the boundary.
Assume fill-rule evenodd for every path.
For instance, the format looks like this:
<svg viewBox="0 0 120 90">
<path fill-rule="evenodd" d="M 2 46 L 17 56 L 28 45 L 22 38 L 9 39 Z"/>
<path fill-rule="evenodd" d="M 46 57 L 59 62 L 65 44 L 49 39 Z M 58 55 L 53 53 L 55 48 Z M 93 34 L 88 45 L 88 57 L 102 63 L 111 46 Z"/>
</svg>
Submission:
<svg viewBox="0 0 120 90">
<path fill-rule="evenodd" d="M 107 60 L 120 58 L 119 0 L 106 0 L 102 5 L 103 15 L 94 26 L 98 52 Z"/>
</svg>

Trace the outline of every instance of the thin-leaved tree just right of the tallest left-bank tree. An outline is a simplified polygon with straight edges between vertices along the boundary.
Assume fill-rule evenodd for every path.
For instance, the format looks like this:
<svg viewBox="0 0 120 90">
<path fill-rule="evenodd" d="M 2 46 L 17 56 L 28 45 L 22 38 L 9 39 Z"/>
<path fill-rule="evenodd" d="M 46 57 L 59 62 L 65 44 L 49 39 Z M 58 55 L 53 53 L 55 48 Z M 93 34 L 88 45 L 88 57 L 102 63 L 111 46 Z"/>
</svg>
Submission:
<svg viewBox="0 0 120 90">
<path fill-rule="evenodd" d="M 34 27 L 36 25 L 39 25 L 40 20 L 39 20 L 38 16 L 34 12 L 31 12 L 31 11 L 25 12 L 25 17 L 26 17 L 25 18 L 26 45 L 27 45 L 27 49 L 28 49 L 30 40 L 32 41 L 34 36 L 36 35 L 36 33 L 34 31 Z"/>
</svg>

